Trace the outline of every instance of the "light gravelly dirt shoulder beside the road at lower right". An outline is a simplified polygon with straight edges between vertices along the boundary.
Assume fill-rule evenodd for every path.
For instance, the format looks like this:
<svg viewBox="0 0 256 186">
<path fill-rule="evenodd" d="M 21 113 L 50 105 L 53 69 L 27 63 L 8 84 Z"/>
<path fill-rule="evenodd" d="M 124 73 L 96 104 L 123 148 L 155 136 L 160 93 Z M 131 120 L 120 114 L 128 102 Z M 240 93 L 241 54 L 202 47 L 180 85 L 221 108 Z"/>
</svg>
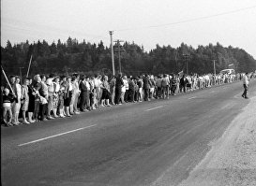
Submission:
<svg viewBox="0 0 256 186">
<path fill-rule="evenodd" d="M 179 186 L 256 186 L 256 96 L 210 145 L 203 161 Z"/>
</svg>

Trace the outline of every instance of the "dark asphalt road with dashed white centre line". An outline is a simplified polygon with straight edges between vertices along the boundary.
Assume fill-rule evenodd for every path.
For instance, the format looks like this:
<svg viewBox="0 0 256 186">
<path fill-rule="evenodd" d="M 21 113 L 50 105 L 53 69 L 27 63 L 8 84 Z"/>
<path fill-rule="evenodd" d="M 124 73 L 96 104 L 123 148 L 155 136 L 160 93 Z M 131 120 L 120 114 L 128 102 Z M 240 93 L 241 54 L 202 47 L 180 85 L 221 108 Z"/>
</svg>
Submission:
<svg viewBox="0 0 256 186">
<path fill-rule="evenodd" d="M 256 79 L 250 81 L 255 90 Z M 242 92 L 242 82 L 235 82 L 1 127 L 2 185 L 177 185 L 248 105 Z"/>
</svg>

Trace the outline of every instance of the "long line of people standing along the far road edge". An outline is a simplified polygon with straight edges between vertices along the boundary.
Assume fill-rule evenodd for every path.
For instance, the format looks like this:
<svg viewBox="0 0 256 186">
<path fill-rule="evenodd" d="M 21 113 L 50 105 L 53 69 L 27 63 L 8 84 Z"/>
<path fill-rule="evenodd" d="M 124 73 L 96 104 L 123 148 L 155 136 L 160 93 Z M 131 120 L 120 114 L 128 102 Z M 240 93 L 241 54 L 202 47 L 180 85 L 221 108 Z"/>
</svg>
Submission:
<svg viewBox="0 0 256 186">
<path fill-rule="evenodd" d="M 241 74 L 144 74 L 128 77 L 120 73 L 112 79 L 101 75 L 36 75 L 33 79 L 25 78 L 21 82 L 20 77 L 11 76 L 9 83 L 1 87 L 1 120 L 5 126 L 45 122 L 71 117 L 98 107 L 169 99 L 176 93 L 186 93 L 239 79 L 242 79 Z M 23 122 L 20 118 L 23 118 Z"/>
</svg>

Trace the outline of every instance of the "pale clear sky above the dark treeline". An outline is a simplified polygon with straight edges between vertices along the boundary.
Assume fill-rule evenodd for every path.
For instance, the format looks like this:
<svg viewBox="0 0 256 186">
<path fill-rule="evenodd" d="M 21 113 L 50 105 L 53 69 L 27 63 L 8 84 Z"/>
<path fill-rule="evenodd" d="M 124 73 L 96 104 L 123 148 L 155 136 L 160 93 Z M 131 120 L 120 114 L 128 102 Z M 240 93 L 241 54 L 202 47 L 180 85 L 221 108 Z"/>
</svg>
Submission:
<svg viewBox="0 0 256 186">
<path fill-rule="evenodd" d="M 173 48 L 182 42 L 247 50 L 256 59 L 255 0 L 1 0 L 1 46 L 68 36 Z"/>
</svg>

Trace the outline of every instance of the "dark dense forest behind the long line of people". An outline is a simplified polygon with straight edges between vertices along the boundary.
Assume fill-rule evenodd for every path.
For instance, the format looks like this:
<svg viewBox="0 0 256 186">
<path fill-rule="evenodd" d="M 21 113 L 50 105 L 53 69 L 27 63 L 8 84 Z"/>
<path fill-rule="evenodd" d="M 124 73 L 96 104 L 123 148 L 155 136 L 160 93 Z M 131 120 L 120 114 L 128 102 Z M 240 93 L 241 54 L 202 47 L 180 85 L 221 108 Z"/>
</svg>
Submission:
<svg viewBox="0 0 256 186">
<path fill-rule="evenodd" d="M 138 76 L 142 73 L 178 73 L 186 72 L 186 60 L 184 54 L 188 54 L 189 73 L 213 73 L 213 60 L 216 60 L 217 73 L 229 64 L 233 64 L 236 72 L 256 70 L 256 61 L 247 51 L 209 44 L 198 46 L 193 49 L 184 43 L 178 48 L 157 45 L 150 51 L 143 50 L 143 46 L 125 42 L 122 44 L 121 64 L 122 72 L 127 75 Z M 118 72 L 117 46 L 114 46 L 115 70 Z M 68 37 L 67 42 L 47 43 L 45 40 L 34 43 L 29 41 L 15 44 L 8 41 L 5 48 L 1 47 L 1 64 L 8 75 L 25 76 L 31 55 L 30 76 L 39 74 L 55 73 L 59 75 L 74 72 L 93 75 L 95 73 L 112 74 L 112 58 L 110 46 L 79 42 L 77 39 Z"/>
</svg>

